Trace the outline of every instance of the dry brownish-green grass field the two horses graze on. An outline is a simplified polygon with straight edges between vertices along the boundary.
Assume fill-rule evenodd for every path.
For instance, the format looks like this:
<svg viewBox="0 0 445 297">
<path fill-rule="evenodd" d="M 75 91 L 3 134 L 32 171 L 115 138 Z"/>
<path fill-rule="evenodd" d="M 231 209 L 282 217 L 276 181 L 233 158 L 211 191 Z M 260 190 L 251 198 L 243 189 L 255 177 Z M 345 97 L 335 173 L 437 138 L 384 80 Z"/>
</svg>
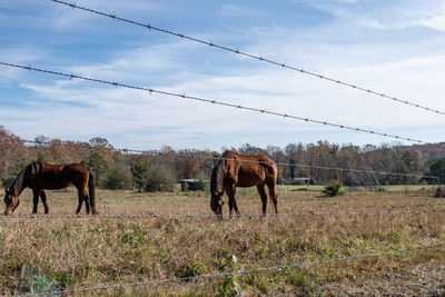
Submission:
<svg viewBox="0 0 445 297">
<path fill-rule="evenodd" d="M 234 296 L 237 290 L 245 296 L 445 294 L 445 212 L 429 211 L 445 209 L 445 199 L 433 198 L 432 189 L 422 187 L 346 190 L 335 198 L 322 197 L 319 189 L 280 186 L 279 211 L 394 212 L 240 217 L 224 221 L 212 217 L 0 218 L 0 295 L 22 293 L 20 274 L 24 265 L 39 267 L 61 289 L 71 289 L 297 263 L 308 265 L 77 295 Z M 72 188 L 47 196 L 50 214 L 73 215 L 77 197 Z M 98 190 L 97 197 L 102 215 L 210 214 L 206 192 Z M 239 190 L 237 202 L 243 214 L 260 212 L 255 188 Z M 227 208 L 226 201 L 225 214 Z M 31 192 L 26 190 L 14 215 L 29 215 L 31 209 Z M 397 212 L 402 210 L 414 212 Z M 387 255 L 313 264 L 375 253 Z M 230 255 L 237 257 L 236 265 Z"/>
</svg>

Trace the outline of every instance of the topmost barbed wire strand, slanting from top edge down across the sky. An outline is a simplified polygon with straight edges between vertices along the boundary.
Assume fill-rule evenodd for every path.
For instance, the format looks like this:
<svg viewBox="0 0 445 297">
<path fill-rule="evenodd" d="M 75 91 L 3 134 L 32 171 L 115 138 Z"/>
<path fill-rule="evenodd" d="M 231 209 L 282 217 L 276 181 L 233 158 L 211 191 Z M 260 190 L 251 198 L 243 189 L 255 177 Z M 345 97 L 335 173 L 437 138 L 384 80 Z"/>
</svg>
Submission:
<svg viewBox="0 0 445 297">
<path fill-rule="evenodd" d="M 444 111 L 435 110 L 435 109 L 432 109 L 432 108 L 428 108 L 428 107 L 425 107 L 425 106 L 422 106 L 422 105 L 418 105 L 418 103 L 413 103 L 413 102 L 409 102 L 407 100 L 398 99 L 396 97 L 388 96 L 388 95 L 385 95 L 383 92 L 374 91 L 372 89 L 367 89 L 367 88 L 364 88 L 364 87 L 360 87 L 360 86 L 357 86 L 357 85 L 353 85 L 353 83 L 349 83 L 349 82 L 344 82 L 342 80 L 334 79 L 334 78 L 330 78 L 330 77 L 327 77 L 327 76 L 324 76 L 324 75 L 320 75 L 320 73 L 308 71 L 308 70 L 305 70 L 305 69 L 301 69 L 301 68 L 297 68 L 297 67 L 294 67 L 294 66 L 288 66 L 288 65 L 283 63 L 283 62 L 277 62 L 277 61 L 274 61 L 274 60 L 270 60 L 270 59 L 263 58 L 260 56 L 256 56 L 256 55 L 248 53 L 248 52 L 245 52 L 245 51 L 236 50 L 236 49 L 233 49 L 233 48 L 229 48 L 229 47 L 226 47 L 226 46 L 220 46 L 220 44 L 217 44 L 217 43 L 214 43 L 214 42 L 205 41 L 205 40 L 197 39 L 197 38 L 194 38 L 194 37 L 189 37 L 189 36 L 182 34 L 182 33 L 178 33 L 178 32 L 174 32 L 174 31 L 170 31 L 170 30 L 161 29 L 161 28 L 151 26 L 149 23 L 141 23 L 141 22 L 138 22 L 138 21 L 135 21 L 135 20 L 125 19 L 125 18 L 118 17 L 116 14 L 109 14 L 109 13 L 101 12 L 101 11 L 98 11 L 98 10 L 93 10 L 93 9 L 90 9 L 90 8 L 80 7 L 80 6 L 77 6 L 76 3 L 68 3 L 68 2 L 60 1 L 60 0 L 51 0 L 51 1 L 60 3 L 60 4 L 65 4 L 65 6 L 68 6 L 68 7 L 71 7 L 73 9 L 88 11 L 88 12 L 91 12 L 91 13 L 95 13 L 95 14 L 99 14 L 99 16 L 111 18 L 113 20 L 119 20 L 119 21 L 122 21 L 122 22 L 127 22 L 127 23 L 139 26 L 139 27 L 144 27 L 144 28 L 147 28 L 149 30 L 167 33 L 167 34 L 170 34 L 170 36 L 179 37 L 181 39 L 187 39 L 187 40 L 190 40 L 190 41 L 194 41 L 194 42 L 198 42 L 198 43 L 201 43 L 201 44 L 205 44 L 205 46 L 218 48 L 218 49 L 221 49 L 221 50 L 225 50 L 225 51 L 229 51 L 229 52 L 233 52 L 233 53 L 236 53 L 236 55 L 239 55 L 239 56 L 244 56 L 244 57 L 251 58 L 251 59 L 255 59 L 255 60 L 258 60 L 258 61 L 263 61 L 263 62 L 267 62 L 267 63 L 270 63 L 270 65 L 275 65 L 275 66 L 278 66 L 280 68 L 290 69 L 290 70 L 297 71 L 299 73 L 303 73 L 303 75 L 308 75 L 308 76 L 312 76 L 312 77 L 316 77 L 316 78 L 319 78 L 319 79 L 323 79 L 323 80 L 327 80 L 327 81 L 330 81 L 330 82 L 334 82 L 334 83 L 337 83 L 337 85 L 340 85 L 340 86 L 344 86 L 344 87 L 348 87 L 348 88 L 352 88 L 352 89 L 355 89 L 355 90 L 359 90 L 359 91 L 364 91 L 364 92 L 367 92 L 367 93 L 370 93 L 370 95 L 374 95 L 374 96 L 378 96 L 380 98 L 389 99 L 389 100 L 393 100 L 393 101 L 396 101 L 396 102 L 399 102 L 399 103 L 404 103 L 404 105 L 407 105 L 407 106 L 419 108 L 419 109 L 423 109 L 423 110 L 426 110 L 426 111 L 429 111 L 429 112 L 434 112 L 434 113 L 437 113 L 437 115 L 445 115 Z"/>
</svg>

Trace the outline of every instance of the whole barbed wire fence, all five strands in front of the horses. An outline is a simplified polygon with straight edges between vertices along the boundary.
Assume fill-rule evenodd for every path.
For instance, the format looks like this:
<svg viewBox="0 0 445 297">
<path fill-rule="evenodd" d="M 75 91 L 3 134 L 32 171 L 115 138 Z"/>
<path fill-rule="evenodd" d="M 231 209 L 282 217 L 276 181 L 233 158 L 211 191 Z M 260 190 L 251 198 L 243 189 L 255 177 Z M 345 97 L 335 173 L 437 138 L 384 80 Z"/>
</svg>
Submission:
<svg viewBox="0 0 445 297">
<path fill-rule="evenodd" d="M 393 101 L 397 101 L 400 103 L 405 103 L 408 106 L 413 106 L 416 108 L 424 109 L 426 111 L 431 111 L 434 113 L 439 113 L 439 115 L 445 115 L 445 112 L 439 111 L 439 110 L 434 110 L 428 107 L 424 107 L 417 103 L 413 103 L 406 100 L 402 100 L 392 96 L 387 96 L 370 89 L 366 89 L 359 86 L 355 86 L 348 82 L 344 82 L 340 80 L 336 80 L 323 75 L 318 75 L 312 71 L 307 71 L 304 69 L 298 69 L 293 66 L 287 66 L 286 63 L 279 63 L 274 60 L 265 59 L 263 57 L 258 57 L 251 53 L 243 52 L 239 50 L 230 49 L 224 46 L 215 44 L 212 42 L 208 42 L 205 40 L 199 40 L 195 39 L 185 34 L 176 33 L 169 30 L 160 29 L 157 27 L 152 27 L 150 24 L 142 24 L 140 22 L 136 22 L 132 20 L 119 18 L 112 14 L 107 14 L 100 11 L 91 10 L 88 8 L 79 7 L 76 6 L 75 3 L 67 3 L 63 1 L 59 0 L 52 0 L 55 2 L 61 3 L 69 6 L 75 9 L 82 9 L 85 11 L 89 11 L 92 13 L 101 14 L 105 17 L 112 18 L 115 20 L 120 20 L 125 21 L 128 23 L 137 24 L 137 26 L 142 26 L 148 29 L 152 29 L 159 32 L 164 33 L 169 33 L 172 36 L 177 36 L 184 39 L 188 39 L 195 42 L 200 42 L 202 44 L 207 44 L 210 47 L 219 48 L 221 50 L 226 51 L 231 51 L 237 55 L 241 55 L 244 57 L 253 58 L 259 61 L 268 62 L 275 66 L 279 66 L 281 68 L 287 68 L 290 70 L 298 71 L 304 75 L 309 75 L 313 77 L 317 77 L 323 80 L 327 80 L 330 82 L 335 82 L 337 85 L 342 85 L 345 87 L 349 87 L 356 90 L 365 91 L 370 95 L 375 95 L 382 98 L 390 99 Z M 374 131 L 374 130 L 368 130 L 368 129 L 363 129 L 363 128 L 355 128 L 355 127 L 349 127 L 345 125 L 339 125 L 339 123 L 332 123 L 327 121 L 322 121 L 322 120 L 314 120 L 310 118 L 304 118 L 304 117 L 298 117 L 298 116 L 293 116 L 293 115 L 287 115 L 287 113 L 280 113 L 280 112 L 275 112 L 275 111 L 269 111 L 265 109 L 258 109 L 258 108 L 253 108 L 253 107 L 245 107 L 241 105 L 234 105 L 234 103 L 227 103 L 224 101 L 217 101 L 217 100 L 211 100 L 211 99 L 206 99 L 206 98 L 198 98 L 194 96 L 186 96 L 185 93 L 176 93 L 176 92 L 169 92 L 169 91 L 162 91 L 162 90 L 157 90 L 157 89 L 151 89 L 151 88 L 145 88 L 145 87 L 137 87 L 137 86 L 131 86 L 131 85 L 126 85 L 126 83 L 120 83 L 120 82 L 111 82 L 107 80 L 101 80 L 101 79 L 96 79 L 96 78 L 87 78 L 87 77 L 81 77 L 81 76 L 76 76 L 76 75 L 68 75 L 63 72 L 58 72 L 58 71 L 52 71 L 52 70 L 46 70 L 46 69 L 39 69 L 39 68 L 32 68 L 30 66 L 19 66 L 19 65 L 13 65 L 13 63 L 7 63 L 7 62 L 0 62 L 0 65 L 8 66 L 8 67 L 16 67 L 16 68 L 21 68 L 30 71 L 39 71 L 39 72 L 46 72 L 50 75 L 57 75 L 57 76 L 62 76 L 62 77 L 68 77 L 70 79 L 81 79 L 81 80 L 87 80 L 87 81 L 92 81 L 92 82 L 99 82 L 99 83 L 106 83 L 115 87 L 123 87 L 123 88 L 130 88 L 130 89 L 137 89 L 137 90 L 142 90 L 142 91 L 148 91 L 150 93 L 159 93 L 159 95 L 165 95 L 165 96 L 172 96 L 172 97 L 179 97 L 182 99 L 190 99 L 190 100 L 196 100 L 200 102 L 207 102 L 207 103 L 212 103 L 212 105 L 219 105 L 219 106 L 225 106 L 225 107 L 230 107 L 230 108 L 236 108 L 236 109 L 244 109 L 244 110 L 249 110 L 249 111 L 255 111 L 255 112 L 260 112 L 265 115 L 270 115 L 270 116 L 279 116 L 283 118 L 289 118 L 289 119 L 296 119 L 300 121 L 306 121 L 306 122 L 313 122 L 313 123 L 318 123 L 318 125 L 325 125 L 325 126 L 332 126 L 340 129 L 348 129 L 348 130 L 355 130 L 359 132 L 367 132 L 372 135 L 377 135 L 377 136 L 383 136 L 383 137 L 388 137 L 388 138 L 394 138 L 398 140 L 407 140 L 407 141 L 413 141 L 413 142 L 418 142 L 418 143 L 427 143 L 426 141 L 422 140 L 416 140 L 412 139 L 408 137 L 400 137 L 397 135 L 389 135 L 389 133 L 384 133 L 379 131 Z M 22 140 L 23 142 L 34 142 L 37 143 L 38 141 L 34 140 Z M 51 143 L 52 145 L 52 143 Z M 132 149 L 116 149 L 122 152 L 138 152 L 138 154 L 147 154 L 147 151 L 142 150 L 132 150 Z M 214 160 L 220 159 L 218 157 L 206 157 L 206 158 L 211 158 Z M 280 164 L 277 162 L 277 165 L 281 166 L 289 166 L 289 164 Z M 421 175 L 406 175 L 406 174 L 399 174 L 399 172 L 386 172 L 386 171 L 377 171 L 377 170 L 364 170 L 364 169 L 348 169 L 348 168 L 338 168 L 338 167 L 324 167 L 324 166 L 310 166 L 310 165 L 294 165 L 294 166 L 300 166 L 300 167 L 306 167 L 306 168 L 316 168 L 320 170 L 339 170 L 339 171 L 352 171 L 352 172 L 365 172 L 365 174 L 378 174 L 378 175 L 396 175 L 396 176 L 411 176 L 411 177 L 422 177 L 422 178 L 433 178 L 436 179 L 437 177 L 433 176 L 421 176 Z M 254 218 L 254 217 L 270 217 L 270 218 L 279 218 L 279 217 L 297 217 L 297 216 L 334 216 L 334 215 L 384 215 L 384 214 L 389 214 L 389 215 L 402 215 L 402 214 L 415 214 L 415 212 L 444 212 L 444 209 L 428 209 L 428 210 L 398 210 L 398 211 L 318 211 L 318 212 L 305 212 L 305 214 L 266 214 L 266 215 L 258 215 L 258 214 L 244 214 L 241 217 L 248 217 L 248 218 Z M 215 217 L 214 215 L 199 215 L 199 214 L 190 214 L 190 215 L 103 215 L 103 216 L 0 216 L 0 219 L 63 219 L 63 218 L 79 218 L 79 219 L 137 219 L 137 218 L 162 218 L 162 219 L 172 219 L 172 218 L 210 218 Z M 235 217 L 235 216 L 227 216 L 227 217 Z M 406 254 L 406 253 L 412 253 L 412 251 L 418 251 L 421 249 L 428 249 L 428 248 L 439 248 L 443 247 L 443 245 L 434 245 L 434 246 L 419 246 L 419 247 L 414 247 L 414 248 L 406 248 L 406 249 L 398 249 L 398 250 L 390 250 L 390 251 L 382 251 L 382 253 L 375 253 L 375 254 L 365 254 L 365 255 L 358 255 L 358 256 L 349 256 L 349 257 L 340 257 L 340 258 L 332 258 L 332 259 L 320 259 L 316 261 L 305 261 L 305 263 L 296 263 L 296 264 L 289 264 L 289 265 L 277 265 L 277 266 L 270 266 L 270 267 L 259 267 L 259 268 L 253 268 L 253 269 L 244 269 L 244 270 L 237 270 L 237 271 L 231 271 L 231 273 L 215 273 L 215 274 L 208 274 L 208 275 L 201 275 L 201 276 L 195 276 L 195 277 L 184 277 L 184 278 L 166 278 L 166 279 L 154 279 L 154 280 L 148 280 L 148 281 L 138 281 L 138 283 L 127 283 L 127 284 L 110 284 L 110 285 L 102 285 L 102 286 L 95 286 L 95 287 L 83 287 L 83 288 L 73 288 L 73 289 L 67 289 L 67 290 L 59 290 L 59 291 L 47 291 L 47 293 L 41 293 L 41 294 L 26 294 L 26 295 L 17 295 L 17 296 L 46 296 L 46 295 L 61 295 L 61 294 L 75 294 L 75 293 L 86 293 L 86 291 L 93 291 L 93 290 L 108 290 L 108 289 L 117 289 L 117 288 L 125 288 L 125 287 L 136 287 L 136 286 L 146 286 L 146 285 L 159 285 L 159 284 L 170 284 L 170 283 L 178 283 L 178 281 L 186 281 L 186 280 L 201 280 L 201 279 L 209 279 L 209 278 L 217 278 L 217 277 L 225 277 L 225 276 L 230 276 L 230 275 L 244 275 L 244 274 L 253 274 L 253 273 L 260 273 L 260 271 L 267 271 L 267 270 L 281 270 L 281 269 L 288 269 L 288 268 L 296 268 L 296 267 L 303 267 L 303 266 L 310 266 L 310 265 L 327 265 L 330 263 L 339 263 L 339 261 L 349 261 L 349 260 L 357 260 L 357 259 L 364 259 L 364 258 L 372 258 L 372 257 L 379 257 L 379 256 L 392 256 L 396 254 Z"/>
</svg>

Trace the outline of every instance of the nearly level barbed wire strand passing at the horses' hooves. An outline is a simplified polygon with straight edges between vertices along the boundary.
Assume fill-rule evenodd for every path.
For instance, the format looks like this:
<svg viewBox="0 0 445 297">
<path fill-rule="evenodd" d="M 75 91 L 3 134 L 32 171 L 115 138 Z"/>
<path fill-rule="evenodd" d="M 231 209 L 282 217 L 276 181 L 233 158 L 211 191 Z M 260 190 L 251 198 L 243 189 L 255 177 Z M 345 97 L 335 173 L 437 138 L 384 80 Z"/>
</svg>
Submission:
<svg viewBox="0 0 445 297">
<path fill-rule="evenodd" d="M 445 209 L 415 209 L 415 210 L 347 210 L 347 211 L 310 211 L 310 212 L 289 212 L 289 214 L 240 214 L 225 215 L 227 218 L 283 218 L 283 217 L 315 217 L 315 216 L 365 216 L 365 215 L 411 215 L 411 214 L 428 214 L 428 212 L 445 212 Z M 186 215 L 18 215 L 4 216 L 0 219 L 198 219 L 198 218 L 217 218 L 216 215 L 204 214 L 186 214 Z"/>
</svg>

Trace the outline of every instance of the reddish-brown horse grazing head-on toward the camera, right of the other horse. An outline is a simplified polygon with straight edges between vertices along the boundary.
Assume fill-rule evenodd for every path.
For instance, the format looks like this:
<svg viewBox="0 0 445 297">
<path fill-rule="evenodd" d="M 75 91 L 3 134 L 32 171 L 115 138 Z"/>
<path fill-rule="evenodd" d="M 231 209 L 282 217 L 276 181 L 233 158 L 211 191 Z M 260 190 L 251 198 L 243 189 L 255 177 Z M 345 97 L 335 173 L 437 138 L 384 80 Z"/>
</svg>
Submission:
<svg viewBox="0 0 445 297">
<path fill-rule="evenodd" d="M 241 156 L 233 151 L 225 151 L 210 177 L 210 207 L 215 215 L 222 218 L 222 195 L 226 191 L 229 197 L 229 210 L 235 208 L 239 216 L 238 206 L 235 200 L 236 187 L 247 188 L 257 186 L 263 201 L 263 215 L 266 215 L 267 195 L 265 186 L 269 189 L 269 196 L 277 209 L 277 165 L 266 156 Z"/>
</svg>

